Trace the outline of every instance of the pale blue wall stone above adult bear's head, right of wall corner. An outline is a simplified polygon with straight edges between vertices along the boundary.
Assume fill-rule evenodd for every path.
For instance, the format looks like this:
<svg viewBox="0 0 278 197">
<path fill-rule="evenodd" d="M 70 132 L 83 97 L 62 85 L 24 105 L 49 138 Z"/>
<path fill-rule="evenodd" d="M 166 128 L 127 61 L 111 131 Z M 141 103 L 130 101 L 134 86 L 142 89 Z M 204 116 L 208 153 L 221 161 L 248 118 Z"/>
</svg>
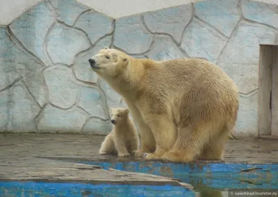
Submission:
<svg viewBox="0 0 278 197">
<path fill-rule="evenodd" d="M 117 19 L 114 39 L 114 45 L 127 53 L 144 53 L 152 42 L 152 36 L 142 28 L 140 16 Z"/>
</svg>

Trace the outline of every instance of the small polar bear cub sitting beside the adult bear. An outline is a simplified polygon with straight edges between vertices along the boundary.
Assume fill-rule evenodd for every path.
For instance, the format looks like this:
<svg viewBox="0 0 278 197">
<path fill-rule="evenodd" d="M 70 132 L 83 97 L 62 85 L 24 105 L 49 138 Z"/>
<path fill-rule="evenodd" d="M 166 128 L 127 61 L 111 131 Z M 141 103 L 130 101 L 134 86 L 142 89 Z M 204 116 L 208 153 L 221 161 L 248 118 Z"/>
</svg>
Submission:
<svg viewBox="0 0 278 197">
<path fill-rule="evenodd" d="M 110 115 L 113 129 L 102 142 L 99 154 L 130 156 L 139 148 L 139 137 L 135 124 L 129 118 L 129 109 L 111 108 Z"/>
</svg>

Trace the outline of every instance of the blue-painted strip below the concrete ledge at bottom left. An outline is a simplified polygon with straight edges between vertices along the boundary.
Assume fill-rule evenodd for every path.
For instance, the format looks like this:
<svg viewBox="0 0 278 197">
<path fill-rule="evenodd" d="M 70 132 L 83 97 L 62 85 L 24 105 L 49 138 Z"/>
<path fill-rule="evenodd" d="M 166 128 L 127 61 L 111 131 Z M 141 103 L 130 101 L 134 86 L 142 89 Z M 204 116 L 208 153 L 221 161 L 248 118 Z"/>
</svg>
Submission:
<svg viewBox="0 0 278 197">
<path fill-rule="evenodd" d="M 195 196 L 193 191 L 178 186 L 92 185 L 83 183 L 0 182 L 0 196 Z"/>
</svg>

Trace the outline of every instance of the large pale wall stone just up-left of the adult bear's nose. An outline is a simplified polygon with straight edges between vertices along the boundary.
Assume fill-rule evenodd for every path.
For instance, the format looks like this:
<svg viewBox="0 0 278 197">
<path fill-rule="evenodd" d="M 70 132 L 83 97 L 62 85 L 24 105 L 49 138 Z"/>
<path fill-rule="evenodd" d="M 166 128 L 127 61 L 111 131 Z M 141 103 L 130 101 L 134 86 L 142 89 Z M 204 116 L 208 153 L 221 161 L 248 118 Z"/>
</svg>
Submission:
<svg viewBox="0 0 278 197">
<path fill-rule="evenodd" d="M 77 53 L 90 47 L 88 37 L 82 31 L 55 25 L 49 33 L 47 51 L 54 64 L 71 65 Z"/>
</svg>

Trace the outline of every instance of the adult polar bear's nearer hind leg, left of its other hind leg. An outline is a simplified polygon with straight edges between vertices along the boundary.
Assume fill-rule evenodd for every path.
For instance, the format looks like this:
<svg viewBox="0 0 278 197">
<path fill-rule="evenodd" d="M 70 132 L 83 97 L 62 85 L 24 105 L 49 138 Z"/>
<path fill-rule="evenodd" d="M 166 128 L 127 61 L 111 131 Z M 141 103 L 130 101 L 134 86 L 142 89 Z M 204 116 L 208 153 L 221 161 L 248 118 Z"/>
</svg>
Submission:
<svg viewBox="0 0 278 197">
<path fill-rule="evenodd" d="M 211 130 L 206 126 L 179 128 L 177 142 L 162 157 L 165 162 L 193 162 L 202 153 L 205 144 L 211 139 Z"/>
</svg>

